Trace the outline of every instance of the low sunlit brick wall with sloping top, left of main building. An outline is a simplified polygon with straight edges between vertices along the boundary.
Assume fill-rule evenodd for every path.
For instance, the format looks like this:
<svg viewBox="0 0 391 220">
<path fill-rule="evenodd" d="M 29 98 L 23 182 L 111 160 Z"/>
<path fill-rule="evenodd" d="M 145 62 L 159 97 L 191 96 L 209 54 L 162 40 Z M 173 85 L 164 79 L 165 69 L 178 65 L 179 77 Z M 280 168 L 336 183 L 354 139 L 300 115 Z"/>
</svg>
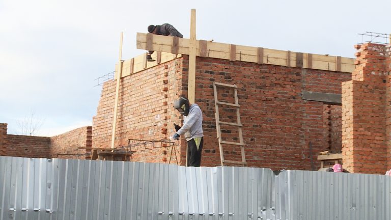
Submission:
<svg viewBox="0 0 391 220">
<path fill-rule="evenodd" d="M 91 152 L 91 150 L 86 151 L 86 149 L 78 149 L 79 147 L 91 148 L 91 130 L 91 126 L 86 126 L 50 137 L 50 155 L 53 158 L 86 158 L 86 156 L 61 154 L 86 154 L 86 152 Z M 88 156 L 88 158 L 90 157 Z"/>
</svg>

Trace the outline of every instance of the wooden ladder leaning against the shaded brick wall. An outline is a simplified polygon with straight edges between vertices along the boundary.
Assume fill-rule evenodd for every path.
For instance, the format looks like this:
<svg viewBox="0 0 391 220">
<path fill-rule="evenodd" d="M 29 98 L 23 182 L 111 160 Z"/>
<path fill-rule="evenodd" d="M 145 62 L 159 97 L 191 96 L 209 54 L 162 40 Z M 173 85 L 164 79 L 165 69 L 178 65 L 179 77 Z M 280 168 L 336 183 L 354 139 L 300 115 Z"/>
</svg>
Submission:
<svg viewBox="0 0 391 220">
<path fill-rule="evenodd" d="M 230 89 L 234 89 L 234 97 L 235 97 L 235 103 L 229 103 L 229 102 L 221 102 L 217 99 L 217 87 L 228 87 Z M 234 164 L 241 164 L 242 166 L 247 165 L 246 157 L 244 154 L 244 142 L 243 142 L 243 133 L 242 133 L 242 124 L 240 122 L 240 114 L 239 114 L 239 101 L 238 101 L 238 92 L 237 92 L 237 86 L 236 85 L 229 85 L 229 84 L 223 84 L 220 82 L 213 82 L 213 91 L 214 91 L 214 106 L 215 106 L 215 118 L 216 118 L 216 130 L 217 130 L 217 139 L 218 139 L 218 146 L 220 150 L 220 160 L 221 160 L 221 166 L 224 167 L 225 163 L 234 163 Z M 236 118 L 237 123 L 231 123 L 231 122 L 221 122 L 220 116 L 218 114 L 218 105 L 228 105 L 236 108 Z M 221 128 L 220 125 L 231 125 L 238 127 L 239 130 L 239 143 L 237 142 L 229 142 L 229 141 L 222 141 L 221 140 Z M 239 145 L 242 161 L 235 161 L 235 160 L 226 160 L 224 159 L 224 151 L 222 150 L 222 144 L 226 145 Z"/>
</svg>

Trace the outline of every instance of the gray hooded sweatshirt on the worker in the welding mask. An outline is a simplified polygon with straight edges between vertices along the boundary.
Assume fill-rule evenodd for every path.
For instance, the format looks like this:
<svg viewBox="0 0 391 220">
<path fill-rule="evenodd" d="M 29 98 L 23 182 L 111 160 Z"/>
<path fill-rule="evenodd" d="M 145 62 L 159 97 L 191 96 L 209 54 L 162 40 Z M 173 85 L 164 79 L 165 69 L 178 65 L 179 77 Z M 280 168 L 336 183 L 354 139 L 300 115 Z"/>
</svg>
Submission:
<svg viewBox="0 0 391 220">
<path fill-rule="evenodd" d="M 186 141 L 195 137 L 203 137 L 202 131 L 202 112 L 198 104 L 191 104 L 189 115 L 183 117 L 183 126 L 177 131 L 179 135 L 185 134 Z"/>
</svg>

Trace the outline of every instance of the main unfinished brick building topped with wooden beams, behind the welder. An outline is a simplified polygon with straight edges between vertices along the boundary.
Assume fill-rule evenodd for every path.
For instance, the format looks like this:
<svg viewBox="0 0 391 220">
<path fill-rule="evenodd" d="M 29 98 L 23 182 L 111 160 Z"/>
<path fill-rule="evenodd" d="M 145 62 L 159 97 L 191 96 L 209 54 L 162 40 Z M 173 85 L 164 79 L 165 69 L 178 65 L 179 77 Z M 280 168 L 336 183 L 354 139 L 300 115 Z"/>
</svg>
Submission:
<svg viewBox="0 0 391 220">
<path fill-rule="evenodd" d="M 177 42 L 175 42 L 177 41 Z M 236 85 L 247 166 L 317 170 L 317 155 L 341 152 L 341 84 L 351 79 L 349 58 L 196 41 L 194 100 L 203 111 L 202 166 L 219 166 L 213 82 Z M 181 117 L 173 108 L 188 93 L 189 39 L 138 34 L 137 47 L 159 53 L 123 62 L 115 146 L 128 139 L 164 140 Z M 187 46 L 187 47 L 186 47 Z M 180 53 L 182 56 L 173 56 Z M 191 55 L 190 55 L 191 56 Z M 117 65 L 118 66 L 118 65 Z M 118 75 L 117 75 L 118 76 Z M 93 146 L 108 148 L 113 126 L 117 80 L 103 85 L 93 119 Z M 218 99 L 234 103 L 232 90 L 218 89 Z M 232 107 L 219 108 L 220 121 L 236 122 Z M 221 125 L 221 139 L 238 142 L 235 126 Z M 180 164 L 186 143 L 178 141 Z M 224 155 L 240 160 L 240 147 L 225 145 Z M 138 147 L 133 160 L 166 162 L 170 146 Z"/>
</svg>

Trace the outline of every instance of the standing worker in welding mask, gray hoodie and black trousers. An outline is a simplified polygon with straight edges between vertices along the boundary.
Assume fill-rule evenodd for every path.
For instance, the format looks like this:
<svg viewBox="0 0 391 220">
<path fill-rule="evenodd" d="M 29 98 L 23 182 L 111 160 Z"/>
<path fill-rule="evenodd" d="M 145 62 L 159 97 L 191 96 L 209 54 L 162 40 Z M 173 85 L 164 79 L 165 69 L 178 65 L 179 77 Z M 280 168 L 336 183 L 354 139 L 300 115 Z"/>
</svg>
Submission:
<svg viewBox="0 0 391 220">
<path fill-rule="evenodd" d="M 201 152 L 204 144 L 204 132 L 202 131 L 202 112 L 198 104 L 190 104 L 187 98 L 179 98 L 174 102 L 175 109 L 183 115 L 183 126 L 174 123 L 173 139 L 185 134 L 187 141 L 187 167 L 201 166 Z"/>
</svg>

